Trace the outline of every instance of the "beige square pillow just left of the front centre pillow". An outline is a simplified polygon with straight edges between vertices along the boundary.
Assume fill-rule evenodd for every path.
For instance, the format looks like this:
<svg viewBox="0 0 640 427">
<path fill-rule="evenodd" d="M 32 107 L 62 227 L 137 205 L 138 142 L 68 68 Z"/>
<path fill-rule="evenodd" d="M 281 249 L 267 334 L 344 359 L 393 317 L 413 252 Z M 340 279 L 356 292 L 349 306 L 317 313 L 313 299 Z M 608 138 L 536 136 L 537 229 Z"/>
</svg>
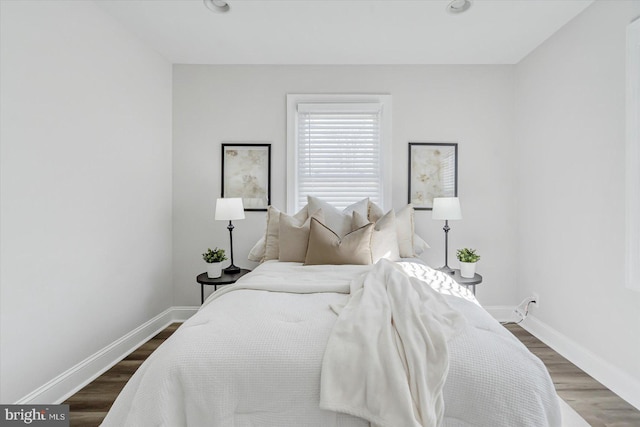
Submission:
<svg viewBox="0 0 640 427">
<path fill-rule="evenodd" d="M 309 230 L 311 218 L 324 221 L 322 210 L 316 211 L 313 215 L 301 221 L 295 216 L 280 212 L 280 261 L 304 262 L 309 245 Z"/>
</svg>

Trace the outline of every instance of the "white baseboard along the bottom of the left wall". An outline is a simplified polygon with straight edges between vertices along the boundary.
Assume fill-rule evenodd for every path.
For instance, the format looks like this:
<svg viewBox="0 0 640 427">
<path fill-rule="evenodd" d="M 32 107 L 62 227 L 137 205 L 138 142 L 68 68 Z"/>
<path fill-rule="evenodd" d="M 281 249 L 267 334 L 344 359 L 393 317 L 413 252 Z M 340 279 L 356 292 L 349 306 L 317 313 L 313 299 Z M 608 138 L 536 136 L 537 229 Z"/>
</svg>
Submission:
<svg viewBox="0 0 640 427">
<path fill-rule="evenodd" d="M 174 322 L 184 322 L 198 307 L 170 307 L 122 338 L 38 387 L 16 404 L 58 404 L 102 375 L 133 350 Z"/>
</svg>

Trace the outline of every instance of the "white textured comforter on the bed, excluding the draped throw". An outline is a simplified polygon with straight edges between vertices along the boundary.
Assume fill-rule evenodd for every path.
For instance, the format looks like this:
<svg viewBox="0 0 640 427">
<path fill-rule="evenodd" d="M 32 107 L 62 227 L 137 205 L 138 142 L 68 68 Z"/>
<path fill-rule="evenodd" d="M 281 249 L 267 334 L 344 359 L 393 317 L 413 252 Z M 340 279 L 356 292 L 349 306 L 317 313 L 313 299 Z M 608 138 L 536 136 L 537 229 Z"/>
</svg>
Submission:
<svg viewBox="0 0 640 427">
<path fill-rule="evenodd" d="M 544 365 L 463 288 L 404 265 L 466 326 L 449 342 L 444 426 L 559 426 Z M 353 278 L 370 266 L 267 262 L 216 292 L 138 369 L 103 426 L 365 427 L 321 409 L 323 355 Z M 435 278 L 435 279 L 434 279 Z M 397 426 L 405 427 L 405 426 Z"/>
</svg>

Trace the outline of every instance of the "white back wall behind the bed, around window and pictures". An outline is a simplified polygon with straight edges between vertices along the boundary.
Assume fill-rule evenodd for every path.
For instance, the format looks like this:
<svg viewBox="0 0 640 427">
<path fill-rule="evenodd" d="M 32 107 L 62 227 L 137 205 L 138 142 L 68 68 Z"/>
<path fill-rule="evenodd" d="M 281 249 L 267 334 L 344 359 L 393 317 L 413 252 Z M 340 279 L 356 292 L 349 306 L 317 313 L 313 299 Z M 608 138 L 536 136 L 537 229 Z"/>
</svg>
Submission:
<svg viewBox="0 0 640 427">
<path fill-rule="evenodd" d="M 407 203 L 407 143 L 457 141 L 464 220 L 451 223 L 455 248 L 471 246 L 483 259 L 479 299 L 513 304 L 515 194 L 512 66 L 174 66 L 173 269 L 177 305 L 199 304 L 195 276 L 207 247 L 228 247 L 226 224 L 214 221 L 220 195 L 220 144 L 270 141 L 272 204 L 286 207 L 286 94 L 389 93 L 393 97 L 393 205 Z M 443 262 L 444 233 L 429 211 L 417 230 Z M 246 260 L 264 230 L 265 214 L 236 221 L 235 263 Z"/>
</svg>

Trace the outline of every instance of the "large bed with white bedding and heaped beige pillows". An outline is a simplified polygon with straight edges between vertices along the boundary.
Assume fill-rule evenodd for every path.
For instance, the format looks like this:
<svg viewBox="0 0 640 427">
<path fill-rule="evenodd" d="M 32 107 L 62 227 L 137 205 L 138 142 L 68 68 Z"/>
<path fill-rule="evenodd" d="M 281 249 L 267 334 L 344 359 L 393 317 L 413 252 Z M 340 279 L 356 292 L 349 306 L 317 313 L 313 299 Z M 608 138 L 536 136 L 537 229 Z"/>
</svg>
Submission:
<svg viewBox="0 0 640 427">
<path fill-rule="evenodd" d="M 471 292 L 419 259 L 391 261 L 380 247 L 372 257 L 373 242 L 389 236 L 375 237 L 381 215 L 358 227 L 370 209 L 341 219 L 368 227 L 340 255 L 357 258 L 368 241 L 365 264 L 327 264 L 326 248 L 309 259 L 318 230 L 336 243 L 324 227 L 331 215 L 309 208 L 292 223 L 306 224 L 298 243 L 312 262 L 264 259 L 276 216 L 268 214 L 262 263 L 210 296 L 145 361 L 102 425 L 560 426 L 546 368 Z M 277 217 L 286 229 L 287 216 Z M 290 246 L 286 230 L 276 234 Z M 402 252 L 395 234 L 393 256 Z"/>
</svg>

